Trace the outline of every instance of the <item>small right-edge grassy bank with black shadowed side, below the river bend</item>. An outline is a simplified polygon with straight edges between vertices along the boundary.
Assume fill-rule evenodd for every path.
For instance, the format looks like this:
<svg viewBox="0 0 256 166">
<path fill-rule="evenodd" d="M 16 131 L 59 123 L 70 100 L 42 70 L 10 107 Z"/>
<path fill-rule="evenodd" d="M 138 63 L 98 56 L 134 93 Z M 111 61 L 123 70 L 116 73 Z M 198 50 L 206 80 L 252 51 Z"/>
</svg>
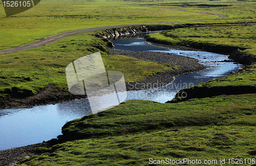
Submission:
<svg viewBox="0 0 256 166">
<path fill-rule="evenodd" d="M 183 89 L 179 92 L 179 94 L 181 93 L 186 93 L 186 98 L 179 98 L 177 96 L 174 100 L 168 102 L 179 102 L 191 98 L 204 98 L 219 95 L 256 93 L 256 64 L 231 76 L 209 80 L 194 86 L 193 89 Z"/>
</svg>

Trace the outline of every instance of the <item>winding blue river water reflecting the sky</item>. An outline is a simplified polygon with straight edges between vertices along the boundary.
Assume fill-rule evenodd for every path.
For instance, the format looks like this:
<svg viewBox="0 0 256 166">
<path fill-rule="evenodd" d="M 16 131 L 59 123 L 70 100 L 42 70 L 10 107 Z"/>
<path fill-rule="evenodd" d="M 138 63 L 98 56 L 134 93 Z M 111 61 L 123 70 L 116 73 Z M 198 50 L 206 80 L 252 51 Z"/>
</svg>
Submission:
<svg viewBox="0 0 256 166">
<path fill-rule="evenodd" d="M 242 66 L 232 62 L 214 62 L 228 60 L 223 54 L 203 51 L 171 50 L 148 44 L 144 38 L 113 40 L 114 48 L 132 51 L 161 51 L 177 53 L 182 56 L 197 58 L 211 68 L 175 77 L 172 84 L 162 88 L 127 92 L 126 100 L 142 99 L 157 102 L 172 100 L 174 95 L 189 85 L 198 85 L 201 81 L 230 75 Z M 160 82 L 159 82 L 160 83 Z M 104 105 L 108 107 L 110 105 Z M 34 106 L 32 108 L 15 108 L 0 110 L 0 150 L 30 144 L 36 144 L 56 138 L 61 134 L 61 127 L 70 120 L 91 114 L 87 99 Z"/>
</svg>

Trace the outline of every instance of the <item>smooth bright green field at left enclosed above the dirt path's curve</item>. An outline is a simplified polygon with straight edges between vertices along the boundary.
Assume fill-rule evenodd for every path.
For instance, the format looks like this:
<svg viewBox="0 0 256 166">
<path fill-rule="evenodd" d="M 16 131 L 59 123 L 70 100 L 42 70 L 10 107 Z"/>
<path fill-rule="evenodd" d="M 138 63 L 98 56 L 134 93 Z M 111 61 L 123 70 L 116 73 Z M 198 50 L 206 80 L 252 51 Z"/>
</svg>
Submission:
<svg viewBox="0 0 256 166">
<path fill-rule="evenodd" d="M 1 10 L 0 49 L 30 43 L 61 32 L 90 27 L 217 17 L 175 9 L 134 7 L 127 4 L 133 2 L 51 0 L 41 1 L 34 8 L 11 17 L 6 17 L 4 10 Z"/>
</svg>

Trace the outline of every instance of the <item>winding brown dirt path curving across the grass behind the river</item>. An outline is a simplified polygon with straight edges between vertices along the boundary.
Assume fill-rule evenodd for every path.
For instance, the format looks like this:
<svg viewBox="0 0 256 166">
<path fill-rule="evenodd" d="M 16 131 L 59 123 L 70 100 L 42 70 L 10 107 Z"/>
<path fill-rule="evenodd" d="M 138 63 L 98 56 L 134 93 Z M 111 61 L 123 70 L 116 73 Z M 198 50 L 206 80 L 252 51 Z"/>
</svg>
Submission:
<svg viewBox="0 0 256 166">
<path fill-rule="evenodd" d="M 129 5 L 129 6 L 136 6 L 136 4 Z M 157 7 L 151 7 L 151 8 L 157 8 Z M 177 8 L 169 8 L 169 9 L 177 9 Z M 177 10 L 182 11 L 182 12 L 193 12 L 193 11 L 186 11 L 184 9 L 177 9 Z M 152 22 L 152 23 L 140 23 L 140 24 L 100 26 L 100 27 L 93 27 L 93 28 L 88 28 L 88 29 L 83 29 L 83 30 L 68 31 L 68 32 L 59 33 L 57 35 L 48 36 L 48 37 L 45 37 L 43 39 L 36 40 L 32 43 L 27 43 L 27 44 L 20 45 L 20 46 L 17 46 L 17 47 L 0 50 L 0 54 L 13 53 L 13 52 L 22 52 L 22 51 L 25 51 L 25 50 L 28 50 L 28 49 L 42 47 L 42 46 L 45 46 L 45 45 L 55 43 L 58 40 L 60 40 L 62 38 L 65 38 L 66 36 L 73 35 L 73 34 L 78 34 L 78 33 L 83 33 L 83 32 L 92 32 L 92 31 L 111 29 L 111 28 L 114 28 L 114 27 L 121 27 L 121 26 L 145 25 L 145 24 L 163 24 L 163 23 L 179 23 L 179 22 L 192 22 L 192 21 L 206 21 L 206 20 L 211 20 L 211 19 L 219 19 L 219 18 L 228 17 L 227 15 L 215 14 L 215 13 L 207 13 L 207 12 L 196 12 L 196 13 L 213 14 L 213 15 L 217 15 L 219 17 L 218 18 L 210 18 L 210 19 L 201 19 L 201 20 L 184 20 L 184 21 L 172 21 L 172 22 Z"/>
</svg>

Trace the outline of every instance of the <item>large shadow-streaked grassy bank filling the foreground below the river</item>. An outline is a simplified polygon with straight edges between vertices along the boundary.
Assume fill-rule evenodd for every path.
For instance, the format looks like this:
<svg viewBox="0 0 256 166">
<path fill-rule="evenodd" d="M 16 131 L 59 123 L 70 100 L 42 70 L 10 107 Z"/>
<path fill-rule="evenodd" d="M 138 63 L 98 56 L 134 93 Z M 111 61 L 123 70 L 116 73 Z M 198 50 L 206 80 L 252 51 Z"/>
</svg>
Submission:
<svg viewBox="0 0 256 166">
<path fill-rule="evenodd" d="M 148 165 L 150 158 L 220 165 L 223 158 L 255 158 L 255 110 L 255 94 L 180 103 L 131 100 L 68 122 L 63 137 L 78 140 L 38 148 L 43 154 L 21 165 Z"/>
</svg>

